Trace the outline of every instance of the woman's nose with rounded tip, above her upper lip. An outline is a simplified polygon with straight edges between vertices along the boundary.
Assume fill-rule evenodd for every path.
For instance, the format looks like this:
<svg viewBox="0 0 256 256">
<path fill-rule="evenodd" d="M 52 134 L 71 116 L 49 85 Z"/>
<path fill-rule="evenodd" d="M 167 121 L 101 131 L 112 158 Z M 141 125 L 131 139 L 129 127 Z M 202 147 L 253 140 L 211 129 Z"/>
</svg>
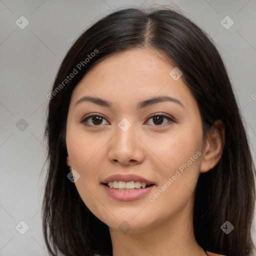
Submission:
<svg viewBox="0 0 256 256">
<path fill-rule="evenodd" d="M 116 128 L 115 136 L 109 141 L 108 159 L 111 163 L 135 165 L 144 160 L 143 143 L 139 140 L 134 126 L 123 131 Z"/>
</svg>

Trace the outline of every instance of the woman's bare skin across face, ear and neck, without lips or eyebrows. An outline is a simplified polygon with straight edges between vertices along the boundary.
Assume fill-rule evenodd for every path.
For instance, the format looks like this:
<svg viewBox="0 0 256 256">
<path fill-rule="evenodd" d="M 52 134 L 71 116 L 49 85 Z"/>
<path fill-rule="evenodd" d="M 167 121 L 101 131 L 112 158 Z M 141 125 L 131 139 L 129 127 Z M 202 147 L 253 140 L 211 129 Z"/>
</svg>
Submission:
<svg viewBox="0 0 256 256">
<path fill-rule="evenodd" d="M 90 211 L 109 227 L 113 256 L 205 255 L 197 244 L 192 226 L 195 186 L 200 172 L 213 168 L 224 146 L 224 127 L 215 122 L 207 140 L 202 139 L 201 118 L 196 101 L 182 76 L 174 80 L 173 69 L 160 51 L 129 49 L 96 64 L 74 88 L 67 116 L 67 165 L 80 178 L 75 186 Z M 138 110 L 139 101 L 168 95 L 182 102 L 160 102 Z M 94 96 L 112 102 L 112 108 L 83 101 Z M 88 113 L 100 121 L 80 123 Z M 164 113 L 160 122 L 150 114 Z M 118 123 L 126 118 L 127 131 Z M 159 118 L 159 117 L 158 117 Z M 158 124 L 159 123 L 159 124 Z M 203 143 L 205 142 L 205 143 Z M 190 157 L 201 154 L 153 202 L 153 196 Z M 100 183 L 112 174 L 138 174 L 155 187 L 132 201 L 111 198 Z M 119 225 L 126 221 L 127 232 Z M 210 255 L 220 255 L 208 252 Z"/>
</svg>

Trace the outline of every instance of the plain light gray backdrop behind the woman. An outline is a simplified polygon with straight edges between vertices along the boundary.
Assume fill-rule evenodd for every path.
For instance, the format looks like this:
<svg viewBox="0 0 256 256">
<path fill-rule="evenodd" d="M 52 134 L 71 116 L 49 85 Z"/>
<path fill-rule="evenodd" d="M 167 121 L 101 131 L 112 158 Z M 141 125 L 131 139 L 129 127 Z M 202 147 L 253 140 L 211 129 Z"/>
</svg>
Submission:
<svg viewBox="0 0 256 256">
<path fill-rule="evenodd" d="M 213 37 L 238 97 L 255 161 L 255 0 L 0 0 L 1 256 L 48 255 L 41 224 L 45 173 L 39 174 L 46 152 L 46 95 L 66 51 L 86 27 L 112 10 L 152 3 L 178 6 Z M 29 21 L 24 29 L 15 23 L 22 15 Z M 229 29 L 221 24 L 226 15 L 234 21 Z M 25 231 L 21 220 L 29 226 L 24 234 L 19 233 Z"/>
</svg>

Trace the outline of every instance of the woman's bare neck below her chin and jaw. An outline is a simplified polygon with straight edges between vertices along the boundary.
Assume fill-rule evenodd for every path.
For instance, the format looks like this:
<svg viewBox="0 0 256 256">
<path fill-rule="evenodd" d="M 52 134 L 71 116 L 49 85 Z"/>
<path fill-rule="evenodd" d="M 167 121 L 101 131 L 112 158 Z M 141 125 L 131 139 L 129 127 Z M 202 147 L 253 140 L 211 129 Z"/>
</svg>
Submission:
<svg viewBox="0 0 256 256">
<path fill-rule="evenodd" d="M 131 225 L 134 223 L 132 219 L 127 222 Z M 130 230 L 123 233 L 109 227 L 109 232 L 113 256 L 205 255 L 194 237 L 190 203 L 175 215 L 155 221 L 142 229 L 131 226 Z"/>
</svg>

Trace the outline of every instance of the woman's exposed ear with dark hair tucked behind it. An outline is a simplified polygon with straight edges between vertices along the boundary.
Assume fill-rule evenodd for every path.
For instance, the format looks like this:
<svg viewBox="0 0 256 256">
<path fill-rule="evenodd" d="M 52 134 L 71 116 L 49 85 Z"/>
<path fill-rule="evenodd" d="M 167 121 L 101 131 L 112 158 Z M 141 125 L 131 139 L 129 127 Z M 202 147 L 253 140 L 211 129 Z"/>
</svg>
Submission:
<svg viewBox="0 0 256 256">
<path fill-rule="evenodd" d="M 222 155 L 224 145 L 225 127 L 221 120 L 216 120 L 207 135 L 200 172 L 206 172 L 218 163 Z"/>
</svg>

